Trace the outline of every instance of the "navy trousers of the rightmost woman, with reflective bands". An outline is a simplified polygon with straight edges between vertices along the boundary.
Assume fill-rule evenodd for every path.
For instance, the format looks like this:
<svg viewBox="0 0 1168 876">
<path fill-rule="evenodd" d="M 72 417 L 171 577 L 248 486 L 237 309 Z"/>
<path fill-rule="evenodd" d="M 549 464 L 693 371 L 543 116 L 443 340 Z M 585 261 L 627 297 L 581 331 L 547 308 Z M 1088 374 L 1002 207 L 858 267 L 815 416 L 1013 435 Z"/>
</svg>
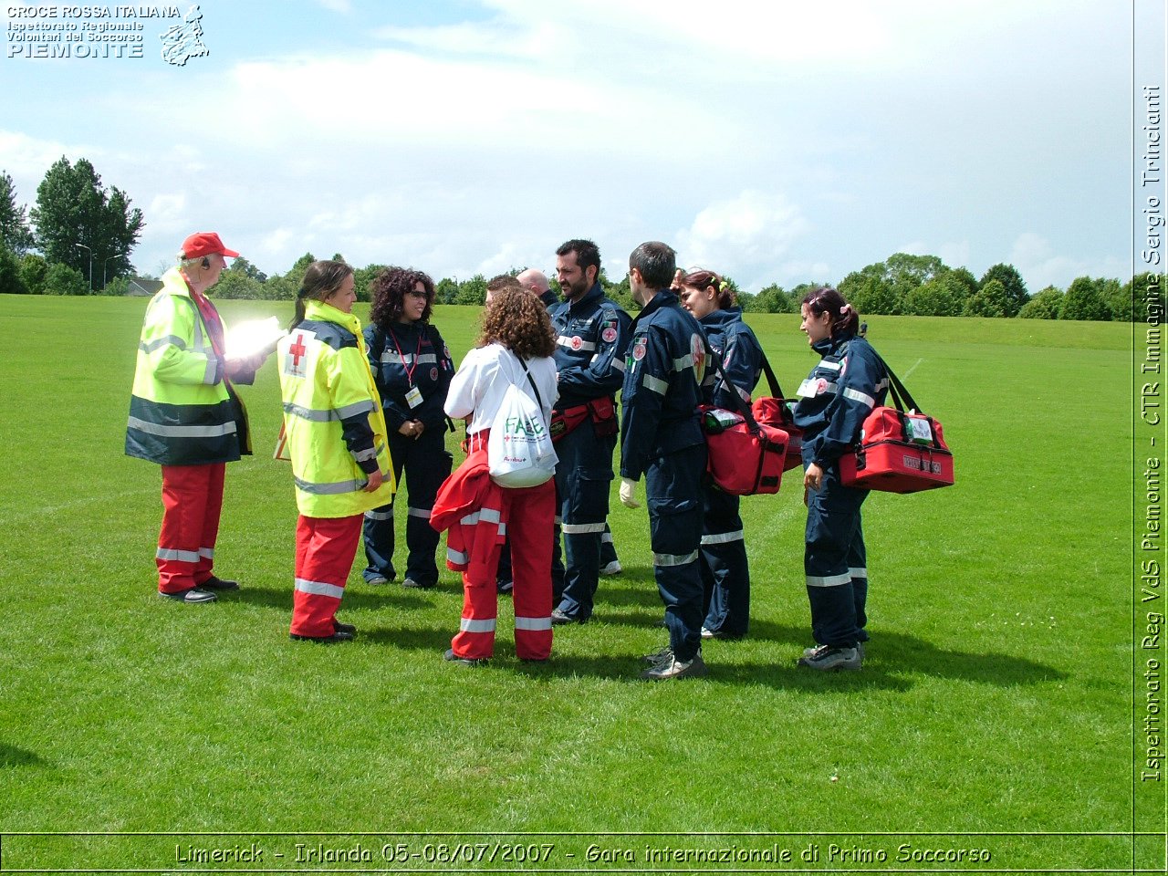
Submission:
<svg viewBox="0 0 1168 876">
<path fill-rule="evenodd" d="M 853 647 L 860 639 L 849 559 L 856 538 L 863 538 L 860 507 L 867 496 L 868 491 L 840 484 L 830 466 L 820 489 L 807 499 L 804 571 L 812 635 L 820 645 Z"/>
</svg>

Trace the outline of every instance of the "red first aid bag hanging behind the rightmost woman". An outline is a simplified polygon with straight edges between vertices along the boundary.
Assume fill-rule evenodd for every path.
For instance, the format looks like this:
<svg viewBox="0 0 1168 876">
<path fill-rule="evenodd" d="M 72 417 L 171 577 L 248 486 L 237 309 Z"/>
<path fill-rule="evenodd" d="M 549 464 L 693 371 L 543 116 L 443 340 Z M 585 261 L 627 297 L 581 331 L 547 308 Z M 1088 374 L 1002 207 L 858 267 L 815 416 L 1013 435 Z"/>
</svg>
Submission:
<svg viewBox="0 0 1168 876">
<path fill-rule="evenodd" d="M 885 493 L 919 493 L 953 486 L 953 454 L 941 424 L 919 412 L 909 390 L 888 371 L 895 408 L 881 405 L 864 419 L 860 444 L 840 457 L 840 482 L 846 487 Z M 908 410 L 905 410 L 908 404 Z"/>
</svg>

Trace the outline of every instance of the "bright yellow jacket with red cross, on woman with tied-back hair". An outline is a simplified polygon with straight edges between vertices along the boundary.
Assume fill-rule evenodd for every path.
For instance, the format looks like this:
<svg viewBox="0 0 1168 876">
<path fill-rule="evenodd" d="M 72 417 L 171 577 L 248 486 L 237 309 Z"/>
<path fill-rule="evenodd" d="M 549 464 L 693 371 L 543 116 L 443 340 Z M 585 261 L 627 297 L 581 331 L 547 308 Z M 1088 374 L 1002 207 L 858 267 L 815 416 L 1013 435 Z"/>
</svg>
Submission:
<svg viewBox="0 0 1168 876">
<path fill-rule="evenodd" d="M 348 517 L 389 505 L 394 467 L 361 321 L 321 301 L 306 301 L 305 320 L 276 352 L 300 513 Z M 375 463 L 385 480 L 366 493 L 366 472 Z"/>
</svg>

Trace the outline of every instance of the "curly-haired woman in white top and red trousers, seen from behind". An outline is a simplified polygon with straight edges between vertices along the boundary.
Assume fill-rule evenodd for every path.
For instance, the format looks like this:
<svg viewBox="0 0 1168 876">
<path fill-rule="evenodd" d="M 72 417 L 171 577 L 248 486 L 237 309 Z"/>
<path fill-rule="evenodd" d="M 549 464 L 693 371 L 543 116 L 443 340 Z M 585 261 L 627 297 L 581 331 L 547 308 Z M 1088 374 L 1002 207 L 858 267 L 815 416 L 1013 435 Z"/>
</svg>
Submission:
<svg viewBox="0 0 1168 876">
<path fill-rule="evenodd" d="M 495 292 L 482 314 L 478 346 L 466 354 L 446 396 L 446 413 L 467 418 L 467 457 L 438 492 L 431 524 L 449 530 L 446 565 L 463 572 L 463 621 L 446 660 L 475 666 L 494 654 L 495 571 L 503 538 L 514 561 L 515 655 L 547 660 L 551 653 L 551 547 L 555 482 L 505 488 L 489 475 L 487 440 L 501 427 L 500 406 L 510 385 L 533 396 L 543 425 L 556 401 L 556 341 L 547 308 L 530 292 Z M 524 368 L 526 366 L 526 368 Z"/>
</svg>

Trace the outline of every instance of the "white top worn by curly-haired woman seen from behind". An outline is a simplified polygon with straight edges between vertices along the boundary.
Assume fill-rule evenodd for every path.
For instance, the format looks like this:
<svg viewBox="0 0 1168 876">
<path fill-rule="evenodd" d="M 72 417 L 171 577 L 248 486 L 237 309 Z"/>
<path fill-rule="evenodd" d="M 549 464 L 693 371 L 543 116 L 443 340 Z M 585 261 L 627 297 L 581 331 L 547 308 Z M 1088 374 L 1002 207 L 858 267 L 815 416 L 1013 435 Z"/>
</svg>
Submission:
<svg viewBox="0 0 1168 876">
<path fill-rule="evenodd" d="M 527 360 L 527 368 L 540 390 L 543 420 L 548 423 L 551 420 L 551 406 L 559 395 L 556 387 L 556 360 L 550 356 L 536 356 Z M 474 415 L 467 427 L 467 434 L 491 429 L 507 387 L 512 383 L 527 395 L 531 395 L 531 384 L 514 353 L 501 343 L 477 347 L 466 354 L 450 382 L 445 404 L 446 416 L 460 419 Z"/>
</svg>

